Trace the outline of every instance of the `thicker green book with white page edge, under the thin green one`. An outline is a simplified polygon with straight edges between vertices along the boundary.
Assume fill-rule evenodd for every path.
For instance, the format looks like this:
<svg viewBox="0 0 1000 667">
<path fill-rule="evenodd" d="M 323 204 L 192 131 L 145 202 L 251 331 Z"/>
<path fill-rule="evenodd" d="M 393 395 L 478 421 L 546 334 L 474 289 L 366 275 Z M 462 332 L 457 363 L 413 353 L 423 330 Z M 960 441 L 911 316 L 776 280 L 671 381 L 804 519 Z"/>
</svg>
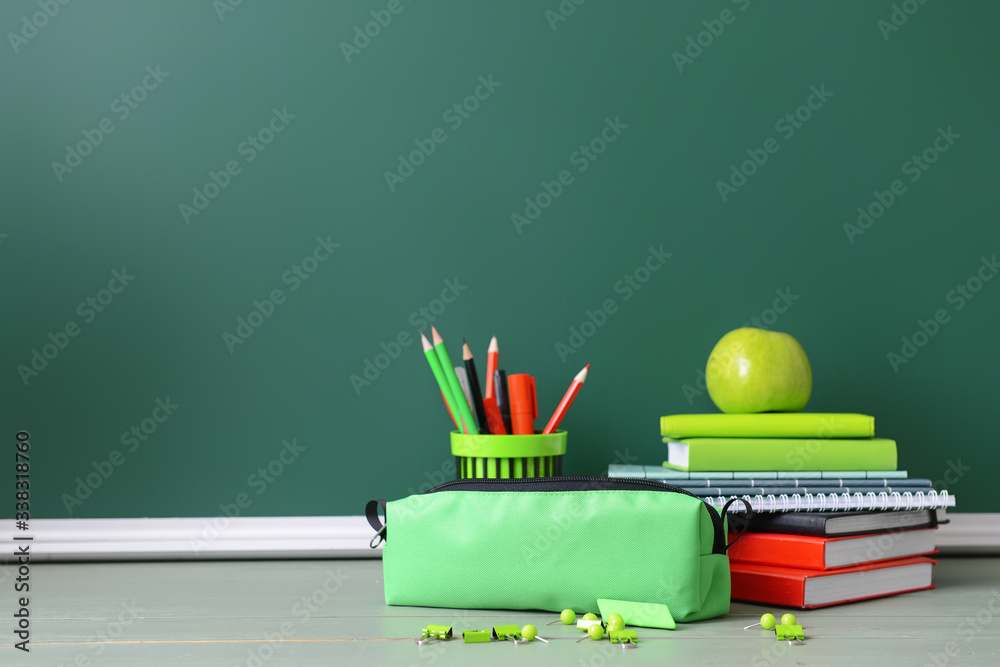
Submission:
<svg viewBox="0 0 1000 667">
<path fill-rule="evenodd" d="M 685 438 L 667 443 L 663 465 L 677 470 L 895 470 L 886 438 Z"/>
</svg>

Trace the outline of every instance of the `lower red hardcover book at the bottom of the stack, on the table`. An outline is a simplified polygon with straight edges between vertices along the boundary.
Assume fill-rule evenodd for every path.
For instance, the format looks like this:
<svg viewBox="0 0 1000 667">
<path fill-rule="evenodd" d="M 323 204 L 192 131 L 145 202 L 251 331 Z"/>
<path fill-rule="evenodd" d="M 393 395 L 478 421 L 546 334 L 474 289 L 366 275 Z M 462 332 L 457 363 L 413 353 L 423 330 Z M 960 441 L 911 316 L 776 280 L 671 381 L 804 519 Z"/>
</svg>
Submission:
<svg viewBox="0 0 1000 667">
<path fill-rule="evenodd" d="M 732 598 L 812 609 L 934 588 L 930 558 L 900 558 L 835 570 L 730 562 Z"/>
</svg>

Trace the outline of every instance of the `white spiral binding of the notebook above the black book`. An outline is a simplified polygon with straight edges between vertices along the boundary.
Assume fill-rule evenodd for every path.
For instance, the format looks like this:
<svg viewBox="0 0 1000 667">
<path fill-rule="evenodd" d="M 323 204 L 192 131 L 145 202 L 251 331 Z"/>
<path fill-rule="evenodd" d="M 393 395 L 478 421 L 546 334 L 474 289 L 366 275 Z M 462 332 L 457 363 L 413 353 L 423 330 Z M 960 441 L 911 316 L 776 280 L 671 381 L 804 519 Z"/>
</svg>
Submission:
<svg viewBox="0 0 1000 667">
<path fill-rule="evenodd" d="M 850 510 L 918 510 L 954 507 L 955 496 L 947 491 L 905 491 L 903 493 L 885 491 L 875 493 L 801 493 L 788 495 L 782 493 L 758 494 L 755 496 L 717 496 L 703 498 L 709 505 L 721 509 L 732 498 L 745 498 L 750 502 L 755 512 L 845 512 Z M 734 503 L 730 512 L 743 512 L 742 504 Z"/>
</svg>

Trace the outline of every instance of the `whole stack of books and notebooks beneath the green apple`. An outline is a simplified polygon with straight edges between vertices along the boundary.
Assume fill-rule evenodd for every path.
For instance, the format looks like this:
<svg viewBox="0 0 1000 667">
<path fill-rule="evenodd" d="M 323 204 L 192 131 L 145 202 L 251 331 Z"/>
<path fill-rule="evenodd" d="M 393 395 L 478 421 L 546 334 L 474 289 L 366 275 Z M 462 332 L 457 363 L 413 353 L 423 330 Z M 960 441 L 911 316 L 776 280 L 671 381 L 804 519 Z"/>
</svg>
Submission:
<svg viewBox="0 0 1000 667">
<path fill-rule="evenodd" d="M 925 556 L 954 498 L 897 470 L 896 443 L 875 437 L 873 417 L 675 415 L 660 427 L 662 466 L 608 474 L 659 479 L 719 508 L 746 499 L 754 517 L 729 550 L 734 599 L 809 608 L 932 587 Z M 734 530 L 744 516 L 730 515 Z"/>
</svg>

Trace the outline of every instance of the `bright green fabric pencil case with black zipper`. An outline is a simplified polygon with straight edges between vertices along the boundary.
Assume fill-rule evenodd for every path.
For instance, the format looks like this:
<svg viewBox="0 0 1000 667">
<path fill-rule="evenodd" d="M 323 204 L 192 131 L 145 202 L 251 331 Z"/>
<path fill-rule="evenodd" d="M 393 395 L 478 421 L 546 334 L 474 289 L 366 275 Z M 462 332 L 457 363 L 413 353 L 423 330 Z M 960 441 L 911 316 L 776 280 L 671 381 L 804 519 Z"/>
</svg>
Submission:
<svg viewBox="0 0 1000 667">
<path fill-rule="evenodd" d="M 366 515 L 388 605 L 584 613 L 611 598 L 684 622 L 729 612 L 727 509 L 654 480 L 540 477 L 445 482 Z"/>
</svg>

